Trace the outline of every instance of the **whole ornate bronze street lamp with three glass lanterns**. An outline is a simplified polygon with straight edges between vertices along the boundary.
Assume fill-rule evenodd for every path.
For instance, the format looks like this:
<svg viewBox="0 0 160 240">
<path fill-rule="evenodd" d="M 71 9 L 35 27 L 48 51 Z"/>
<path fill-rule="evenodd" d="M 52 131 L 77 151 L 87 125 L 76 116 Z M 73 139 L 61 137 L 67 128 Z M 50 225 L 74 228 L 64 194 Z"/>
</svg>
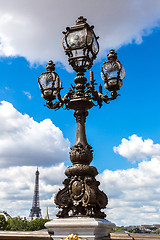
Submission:
<svg viewBox="0 0 160 240">
<path fill-rule="evenodd" d="M 108 103 L 117 98 L 117 90 L 122 86 L 125 76 L 124 68 L 117 59 L 117 54 L 112 49 L 108 54 L 108 61 L 102 66 L 102 79 L 104 87 L 110 91 L 110 96 L 102 93 L 102 86 L 99 91 L 95 89 L 95 80 L 92 70 L 90 71 L 90 82 L 84 77 L 84 72 L 93 65 L 99 51 L 93 26 L 89 26 L 82 16 L 76 21 L 75 26 L 67 27 L 63 38 L 63 47 L 68 55 L 69 64 L 77 72 L 74 79 L 75 86 L 61 97 L 61 81 L 52 61 L 49 61 L 46 69 L 38 79 L 42 97 L 47 100 L 46 106 L 50 109 L 59 109 L 63 106 L 66 109 L 74 110 L 74 117 L 77 122 L 76 140 L 71 147 L 70 160 L 73 166 L 66 169 L 67 178 L 63 181 L 64 188 L 59 190 L 55 196 L 55 204 L 61 209 L 58 217 L 88 216 L 94 218 L 105 218 L 101 212 L 108 203 L 108 198 L 103 191 L 100 191 L 99 182 L 95 179 L 97 169 L 90 166 L 93 159 L 92 147 L 88 144 L 85 131 L 85 121 L 88 110 L 93 106 L 101 108 L 102 103 Z M 58 98 L 57 102 L 52 102 Z M 95 104 L 97 103 L 97 104 Z"/>
</svg>

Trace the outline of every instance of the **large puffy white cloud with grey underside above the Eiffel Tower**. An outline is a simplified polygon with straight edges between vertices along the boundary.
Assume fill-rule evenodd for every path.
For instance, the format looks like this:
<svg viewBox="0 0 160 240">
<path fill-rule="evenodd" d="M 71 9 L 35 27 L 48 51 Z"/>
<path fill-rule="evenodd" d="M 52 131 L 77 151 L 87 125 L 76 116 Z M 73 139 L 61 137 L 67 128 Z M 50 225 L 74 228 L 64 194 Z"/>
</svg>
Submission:
<svg viewBox="0 0 160 240">
<path fill-rule="evenodd" d="M 49 166 L 68 160 L 69 140 L 50 119 L 40 123 L 0 104 L 0 166 Z"/>
</svg>

